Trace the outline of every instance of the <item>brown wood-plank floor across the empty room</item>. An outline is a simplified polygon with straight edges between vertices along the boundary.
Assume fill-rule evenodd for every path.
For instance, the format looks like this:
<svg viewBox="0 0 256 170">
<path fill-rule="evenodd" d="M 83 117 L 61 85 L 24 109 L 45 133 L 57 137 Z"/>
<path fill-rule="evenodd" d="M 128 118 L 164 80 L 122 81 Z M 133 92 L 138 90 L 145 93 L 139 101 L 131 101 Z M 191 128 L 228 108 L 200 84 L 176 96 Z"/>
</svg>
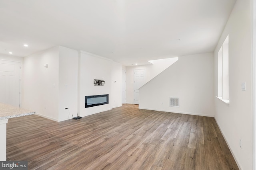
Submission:
<svg viewBox="0 0 256 170">
<path fill-rule="evenodd" d="M 214 118 L 128 104 L 78 121 L 9 119 L 7 160 L 40 170 L 238 170 Z"/>
</svg>

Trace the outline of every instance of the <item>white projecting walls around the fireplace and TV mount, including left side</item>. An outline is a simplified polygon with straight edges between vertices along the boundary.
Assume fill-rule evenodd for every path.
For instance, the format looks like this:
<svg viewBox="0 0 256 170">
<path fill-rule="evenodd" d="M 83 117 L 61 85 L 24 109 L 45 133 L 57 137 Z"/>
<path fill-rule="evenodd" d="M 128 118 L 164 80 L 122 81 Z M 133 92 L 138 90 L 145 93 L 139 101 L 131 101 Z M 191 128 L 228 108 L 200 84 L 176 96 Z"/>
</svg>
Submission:
<svg viewBox="0 0 256 170">
<path fill-rule="evenodd" d="M 54 121 L 122 106 L 122 64 L 84 51 L 57 46 L 25 57 L 23 79 L 24 107 Z M 109 104 L 84 108 L 84 96 L 99 94 L 109 94 Z"/>
</svg>

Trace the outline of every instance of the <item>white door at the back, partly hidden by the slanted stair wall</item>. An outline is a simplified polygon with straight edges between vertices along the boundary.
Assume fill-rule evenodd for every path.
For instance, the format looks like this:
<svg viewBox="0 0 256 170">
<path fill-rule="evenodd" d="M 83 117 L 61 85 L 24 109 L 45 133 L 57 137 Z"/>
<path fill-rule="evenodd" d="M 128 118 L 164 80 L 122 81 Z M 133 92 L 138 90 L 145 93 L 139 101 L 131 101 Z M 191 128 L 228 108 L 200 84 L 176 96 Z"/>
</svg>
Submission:
<svg viewBox="0 0 256 170">
<path fill-rule="evenodd" d="M 134 70 L 134 104 L 139 104 L 139 88 L 146 82 L 145 69 Z"/>
</svg>

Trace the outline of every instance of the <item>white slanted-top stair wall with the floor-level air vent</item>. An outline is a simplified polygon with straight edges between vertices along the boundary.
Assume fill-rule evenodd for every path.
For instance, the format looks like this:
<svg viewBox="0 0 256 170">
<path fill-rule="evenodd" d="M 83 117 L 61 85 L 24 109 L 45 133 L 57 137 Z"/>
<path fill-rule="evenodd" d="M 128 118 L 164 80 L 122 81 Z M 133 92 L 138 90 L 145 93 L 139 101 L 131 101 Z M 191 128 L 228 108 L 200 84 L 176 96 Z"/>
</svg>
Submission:
<svg viewBox="0 0 256 170">
<path fill-rule="evenodd" d="M 213 77 L 213 53 L 179 57 L 139 89 L 139 108 L 213 117 Z M 170 107 L 169 97 L 178 97 L 180 107 Z"/>
</svg>

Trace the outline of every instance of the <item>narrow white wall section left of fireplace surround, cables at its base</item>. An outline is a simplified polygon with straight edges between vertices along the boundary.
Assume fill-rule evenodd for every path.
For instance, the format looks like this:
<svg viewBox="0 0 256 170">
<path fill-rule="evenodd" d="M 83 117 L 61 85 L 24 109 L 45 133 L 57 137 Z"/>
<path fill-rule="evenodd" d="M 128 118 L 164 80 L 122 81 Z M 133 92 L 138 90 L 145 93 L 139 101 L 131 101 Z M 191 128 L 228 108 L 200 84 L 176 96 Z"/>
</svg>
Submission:
<svg viewBox="0 0 256 170">
<path fill-rule="evenodd" d="M 59 46 L 58 121 L 78 113 L 78 51 Z M 68 109 L 65 109 L 68 108 Z"/>
</svg>

